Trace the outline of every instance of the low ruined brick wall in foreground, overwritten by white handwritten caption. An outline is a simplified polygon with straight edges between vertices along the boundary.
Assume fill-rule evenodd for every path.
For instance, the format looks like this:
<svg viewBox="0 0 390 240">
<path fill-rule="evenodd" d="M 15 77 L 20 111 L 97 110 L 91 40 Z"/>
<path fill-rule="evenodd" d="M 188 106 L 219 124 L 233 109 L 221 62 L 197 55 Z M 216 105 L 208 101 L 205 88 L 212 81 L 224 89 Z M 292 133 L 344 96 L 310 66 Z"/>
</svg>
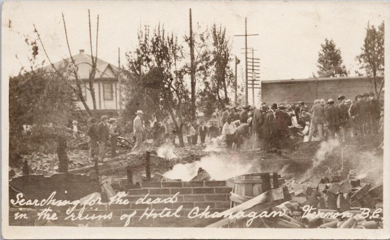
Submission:
<svg viewBox="0 0 390 240">
<path fill-rule="evenodd" d="M 77 224 L 89 224 L 95 226 L 106 226 L 106 227 L 120 227 L 124 226 L 126 219 L 120 220 L 122 214 L 131 214 L 135 210 L 137 213 L 131 218 L 130 226 L 174 226 L 174 227 L 190 227 L 190 226 L 206 226 L 217 219 L 205 219 L 205 218 L 188 218 L 190 211 L 198 207 L 198 213 L 203 212 L 208 206 L 210 214 L 214 212 L 222 212 L 230 208 L 230 192 L 232 187 L 227 187 L 225 181 L 195 181 L 195 182 L 144 182 L 141 185 L 141 189 L 130 189 L 128 195 L 123 197 L 122 200 L 127 199 L 130 204 L 104 204 L 98 206 L 98 210 L 94 206 L 93 209 L 86 209 L 83 215 L 86 214 L 109 214 L 113 213 L 111 220 L 104 221 L 59 221 L 59 225 L 76 225 Z M 148 197 L 145 199 L 156 198 L 166 199 L 172 197 L 177 192 L 177 201 L 175 203 L 156 203 L 156 204 L 136 204 L 137 200 L 144 198 L 146 194 Z M 151 208 L 154 208 L 156 213 L 161 213 L 165 207 L 172 209 L 171 212 L 175 212 L 176 209 L 183 206 L 178 212 L 179 218 L 166 217 L 166 218 L 155 218 L 150 217 L 146 219 L 140 217 L 148 208 L 150 212 Z M 28 210 L 29 220 L 17 221 L 14 220 L 13 216 L 15 212 L 24 212 Z M 18 210 L 18 208 L 10 209 L 10 224 L 11 225 L 34 225 L 34 219 L 36 219 L 37 211 L 32 209 Z M 77 215 L 77 212 L 75 212 Z M 59 220 L 64 219 L 66 215 L 59 217 Z"/>
</svg>

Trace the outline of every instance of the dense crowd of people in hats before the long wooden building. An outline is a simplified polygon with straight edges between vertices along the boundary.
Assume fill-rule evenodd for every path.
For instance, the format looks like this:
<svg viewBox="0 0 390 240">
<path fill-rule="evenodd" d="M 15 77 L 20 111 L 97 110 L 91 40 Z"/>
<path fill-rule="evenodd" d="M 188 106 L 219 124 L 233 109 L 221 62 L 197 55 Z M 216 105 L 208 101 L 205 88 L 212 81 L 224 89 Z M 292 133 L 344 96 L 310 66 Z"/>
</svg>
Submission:
<svg viewBox="0 0 390 240">
<path fill-rule="evenodd" d="M 354 136 L 374 135 L 383 131 L 384 108 L 373 92 L 358 94 L 355 101 L 339 95 L 337 100 L 316 99 L 309 110 L 299 101 L 287 105 L 262 103 L 259 108 L 226 106 L 221 126 L 227 148 L 286 148 L 291 143 Z M 239 113 L 238 113 L 239 112 Z"/>
</svg>

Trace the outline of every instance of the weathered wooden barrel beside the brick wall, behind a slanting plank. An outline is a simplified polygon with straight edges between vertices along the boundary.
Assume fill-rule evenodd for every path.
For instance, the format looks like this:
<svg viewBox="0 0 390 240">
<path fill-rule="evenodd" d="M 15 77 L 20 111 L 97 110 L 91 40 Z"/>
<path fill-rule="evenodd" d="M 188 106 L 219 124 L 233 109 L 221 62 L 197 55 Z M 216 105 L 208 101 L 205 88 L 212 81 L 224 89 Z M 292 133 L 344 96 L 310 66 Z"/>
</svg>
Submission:
<svg viewBox="0 0 390 240">
<path fill-rule="evenodd" d="M 230 194 L 231 207 L 271 190 L 270 173 L 253 173 L 237 176 L 233 180 L 233 192 Z"/>
</svg>

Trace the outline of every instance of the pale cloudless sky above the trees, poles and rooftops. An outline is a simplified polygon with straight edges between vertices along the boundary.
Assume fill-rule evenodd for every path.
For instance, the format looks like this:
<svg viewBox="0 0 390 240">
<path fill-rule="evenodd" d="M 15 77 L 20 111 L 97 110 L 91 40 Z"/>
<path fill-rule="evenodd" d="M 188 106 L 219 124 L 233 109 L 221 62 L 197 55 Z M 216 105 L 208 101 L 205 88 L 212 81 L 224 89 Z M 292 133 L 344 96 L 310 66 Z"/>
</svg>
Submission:
<svg viewBox="0 0 390 240">
<path fill-rule="evenodd" d="M 333 39 L 340 48 L 350 75 L 359 70 L 355 56 L 360 54 L 367 22 L 378 26 L 388 17 L 389 8 L 378 2 L 268 2 L 268 1 L 26 1 L 5 2 L 2 11 L 3 76 L 18 74 L 29 66 L 26 36 L 36 38 L 36 25 L 53 62 L 69 57 L 61 12 L 65 15 L 72 54 L 84 49 L 90 54 L 88 9 L 91 11 L 92 36 L 96 36 L 99 15 L 98 57 L 117 65 L 118 47 L 121 63 L 125 52 L 137 46 L 140 25 L 162 23 L 184 43 L 189 33 L 189 8 L 194 30 L 213 23 L 226 27 L 232 40 L 232 54 L 238 65 L 238 81 L 243 81 L 244 34 L 247 18 L 248 47 L 260 58 L 260 80 L 308 78 L 317 73 L 316 61 L 321 43 Z M 11 24 L 9 22 L 11 21 Z M 11 27 L 10 27 L 11 25 Z M 39 45 L 40 47 L 40 45 Z M 95 49 L 95 42 L 94 42 Z M 18 58 L 17 58 L 18 57 Z M 40 49 L 39 59 L 45 57 Z M 6 61 L 6 62 L 5 62 Z M 47 61 L 46 61 L 47 62 Z M 234 63 L 232 62 L 234 67 Z M 360 70 L 362 74 L 364 71 Z"/>
</svg>

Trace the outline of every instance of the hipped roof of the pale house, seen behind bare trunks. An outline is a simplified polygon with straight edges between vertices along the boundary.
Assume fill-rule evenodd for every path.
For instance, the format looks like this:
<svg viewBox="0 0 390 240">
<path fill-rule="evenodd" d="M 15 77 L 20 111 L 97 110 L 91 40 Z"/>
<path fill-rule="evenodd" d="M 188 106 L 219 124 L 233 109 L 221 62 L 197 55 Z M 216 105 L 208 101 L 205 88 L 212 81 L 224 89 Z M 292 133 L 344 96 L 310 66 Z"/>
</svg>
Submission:
<svg viewBox="0 0 390 240">
<path fill-rule="evenodd" d="M 78 55 L 73 55 L 73 59 L 75 61 L 75 65 L 77 66 L 78 70 L 78 78 L 79 79 L 89 79 L 89 72 L 92 69 L 92 58 L 91 55 L 87 55 L 84 53 L 84 50 L 79 50 Z M 75 79 L 74 73 L 72 71 L 73 69 L 73 64 L 72 64 L 72 59 L 66 58 L 61 61 L 58 61 L 54 63 L 54 66 L 57 69 L 67 69 L 67 74 L 69 74 L 69 79 Z M 51 69 L 52 66 L 48 65 L 44 67 L 45 70 Z M 99 79 L 111 79 L 114 80 L 117 78 L 117 72 L 118 68 L 117 66 L 108 63 L 106 61 L 103 61 L 99 58 L 97 58 L 97 63 L 96 63 L 96 75 L 95 78 Z"/>
</svg>

